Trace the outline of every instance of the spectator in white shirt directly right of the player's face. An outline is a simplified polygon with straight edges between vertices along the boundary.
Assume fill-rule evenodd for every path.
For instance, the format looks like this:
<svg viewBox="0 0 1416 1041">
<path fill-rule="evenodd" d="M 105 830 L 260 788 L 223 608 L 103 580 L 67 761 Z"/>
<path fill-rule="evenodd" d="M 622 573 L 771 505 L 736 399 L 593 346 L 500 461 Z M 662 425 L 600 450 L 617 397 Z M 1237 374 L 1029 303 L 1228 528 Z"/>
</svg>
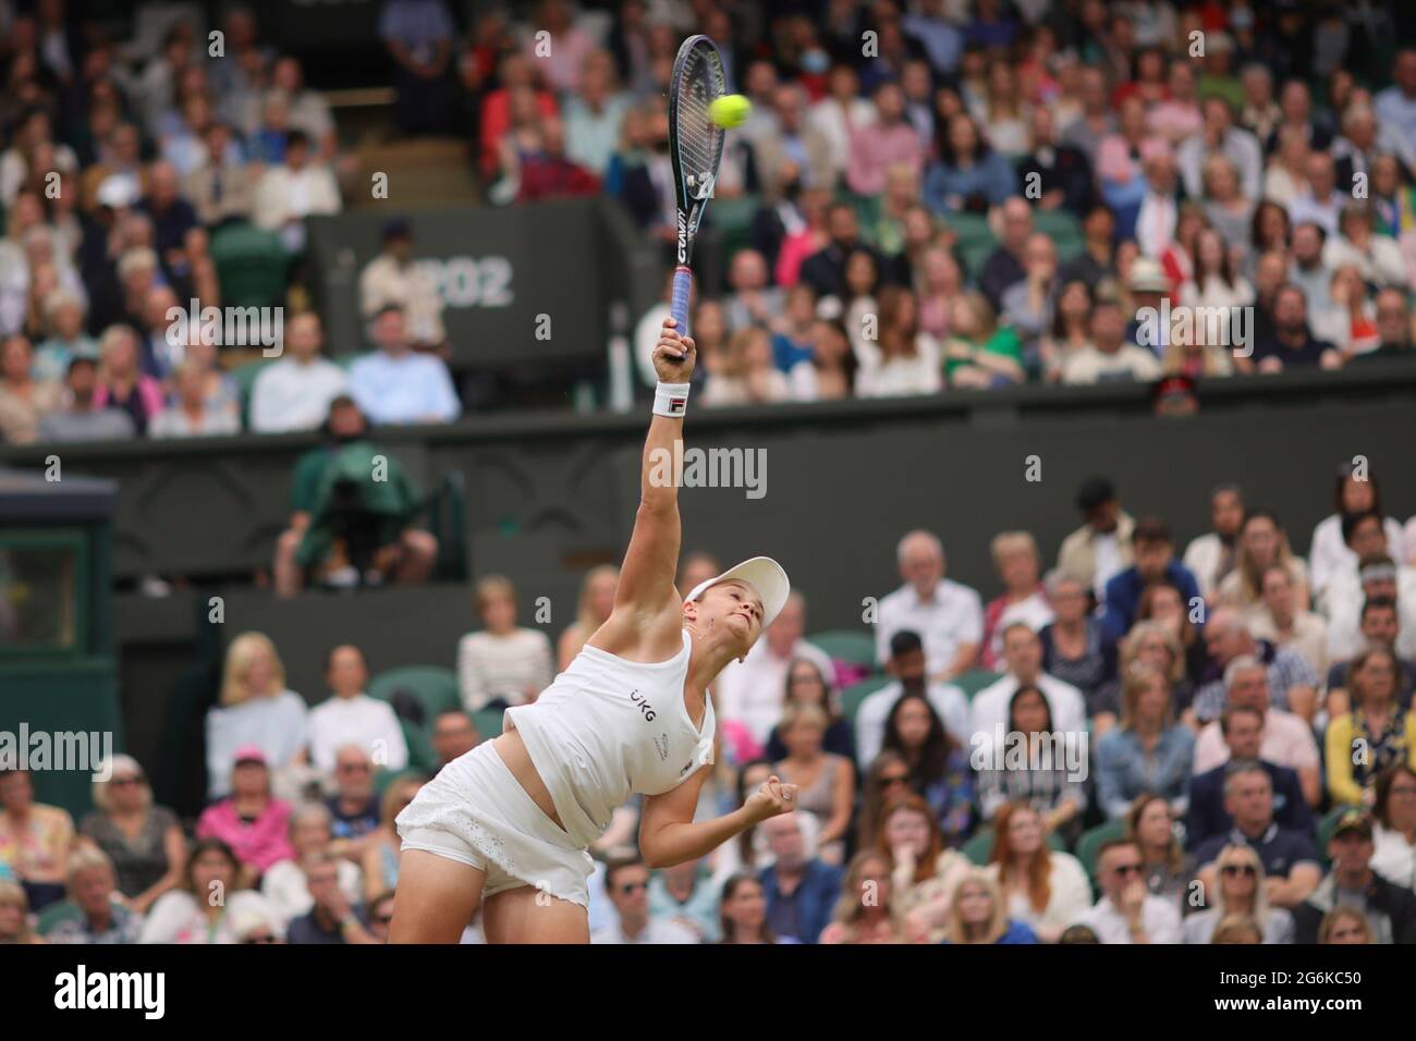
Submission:
<svg viewBox="0 0 1416 1041">
<path fill-rule="evenodd" d="M 830 688 L 835 680 L 831 656 L 801 639 L 806 632 L 806 598 L 792 592 L 782 610 L 767 626 L 766 639 L 758 640 L 742 661 L 729 661 L 718 674 L 716 705 L 719 715 L 741 722 L 753 741 L 766 745 L 772 728 L 782 718 L 787 673 L 794 659 L 806 659 L 821 670 Z"/>
</svg>

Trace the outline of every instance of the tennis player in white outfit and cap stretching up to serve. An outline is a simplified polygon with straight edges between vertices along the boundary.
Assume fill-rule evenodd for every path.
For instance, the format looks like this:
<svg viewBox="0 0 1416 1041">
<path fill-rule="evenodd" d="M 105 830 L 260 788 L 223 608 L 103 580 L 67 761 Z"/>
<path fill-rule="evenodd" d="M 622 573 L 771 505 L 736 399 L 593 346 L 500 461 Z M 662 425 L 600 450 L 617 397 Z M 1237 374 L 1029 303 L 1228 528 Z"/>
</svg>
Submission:
<svg viewBox="0 0 1416 1041">
<path fill-rule="evenodd" d="M 479 905 L 490 943 L 589 942 L 586 848 L 632 795 L 644 796 L 639 848 L 656 868 L 796 807 L 796 785 L 773 776 L 738 810 L 694 823 L 714 762 L 708 684 L 746 656 L 789 591 L 766 557 L 685 599 L 674 589 L 678 474 L 651 474 L 654 460 L 675 457 L 695 357 L 666 319 L 639 513 L 609 619 L 539 698 L 507 710 L 500 738 L 447 763 L 398 814 L 394 943 L 456 943 Z"/>
</svg>

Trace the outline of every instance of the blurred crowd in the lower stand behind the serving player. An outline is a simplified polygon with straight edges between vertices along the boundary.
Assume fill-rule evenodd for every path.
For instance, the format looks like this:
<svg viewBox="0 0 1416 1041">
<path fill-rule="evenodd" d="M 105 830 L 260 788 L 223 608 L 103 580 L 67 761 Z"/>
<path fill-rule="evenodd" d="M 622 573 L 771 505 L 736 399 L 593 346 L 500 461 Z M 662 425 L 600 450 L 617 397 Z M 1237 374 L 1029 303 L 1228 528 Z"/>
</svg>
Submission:
<svg viewBox="0 0 1416 1041">
<path fill-rule="evenodd" d="M 595 942 L 1416 942 L 1416 518 L 1365 465 L 1325 491 L 1306 555 L 1238 484 L 1181 540 L 1097 476 L 1051 568 L 1028 531 L 993 538 L 987 599 L 923 530 L 858 630 L 809 635 L 793 591 L 711 688 L 700 813 L 770 775 L 799 809 L 651 872 L 622 807 L 592 847 Z M 678 586 L 721 571 L 691 552 Z M 350 644 L 296 693 L 268 636 L 235 637 L 194 820 L 127 756 L 76 827 L 0 773 L 0 938 L 382 942 L 395 816 L 568 666 L 616 584 L 586 572 L 552 643 L 511 579 L 479 581 L 477 627 L 426 663 L 442 702 Z"/>
</svg>

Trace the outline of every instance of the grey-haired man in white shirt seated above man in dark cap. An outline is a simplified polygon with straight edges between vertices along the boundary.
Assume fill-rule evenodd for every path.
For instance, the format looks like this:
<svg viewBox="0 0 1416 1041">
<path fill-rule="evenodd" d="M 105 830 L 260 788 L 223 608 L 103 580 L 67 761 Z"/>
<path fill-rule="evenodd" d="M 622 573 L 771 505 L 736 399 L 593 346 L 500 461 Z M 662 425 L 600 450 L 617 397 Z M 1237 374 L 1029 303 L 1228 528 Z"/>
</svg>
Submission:
<svg viewBox="0 0 1416 1041">
<path fill-rule="evenodd" d="M 891 637 L 909 629 L 925 642 L 932 680 L 952 680 L 973 669 L 983 642 L 983 601 L 944 578 L 944 547 L 929 531 L 910 531 L 896 550 L 905 585 L 885 596 L 875 622 L 875 659 L 889 660 Z"/>
</svg>

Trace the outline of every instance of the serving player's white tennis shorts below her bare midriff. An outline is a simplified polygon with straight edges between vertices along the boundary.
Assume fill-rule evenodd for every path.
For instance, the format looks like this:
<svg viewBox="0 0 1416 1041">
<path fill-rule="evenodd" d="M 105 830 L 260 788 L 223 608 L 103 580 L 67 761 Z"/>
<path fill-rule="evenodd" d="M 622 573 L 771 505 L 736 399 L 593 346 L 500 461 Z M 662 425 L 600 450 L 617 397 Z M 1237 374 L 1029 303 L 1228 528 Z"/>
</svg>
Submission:
<svg viewBox="0 0 1416 1041">
<path fill-rule="evenodd" d="M 532 885 L 589 908 L 595 861 L 535 804 L 490 741 L 443 766 L 395 824 L 402 848 L 481 868 L 483 899 Z"/>
</svg>

